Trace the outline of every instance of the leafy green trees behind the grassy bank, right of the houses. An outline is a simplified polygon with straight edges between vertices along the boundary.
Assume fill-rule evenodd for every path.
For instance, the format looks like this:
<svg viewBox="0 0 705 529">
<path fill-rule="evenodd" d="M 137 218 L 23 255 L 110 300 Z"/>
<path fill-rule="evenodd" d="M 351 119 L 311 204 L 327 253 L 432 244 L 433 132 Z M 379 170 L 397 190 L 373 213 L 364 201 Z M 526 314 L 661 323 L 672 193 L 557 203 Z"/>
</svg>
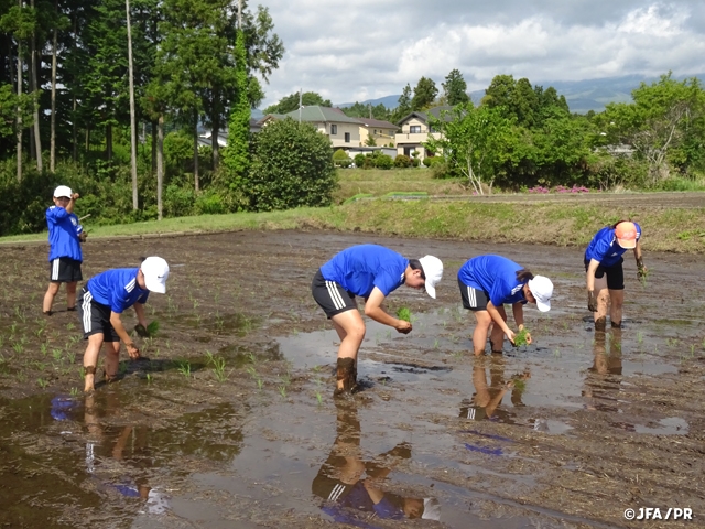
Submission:
<svg viewBox="0 0 705 529">
<path fill-rule="evenodd" d="M 478 107 L 456 105 L 432 118 L 442 137 L 427 148 L 478 194 L 502 187 L 676 186 L 705 171 L 705 90 L 670 74 L 632 91 L 633 102 L 571 115 L 552 87 L 499 75 Z"/>
</svg>

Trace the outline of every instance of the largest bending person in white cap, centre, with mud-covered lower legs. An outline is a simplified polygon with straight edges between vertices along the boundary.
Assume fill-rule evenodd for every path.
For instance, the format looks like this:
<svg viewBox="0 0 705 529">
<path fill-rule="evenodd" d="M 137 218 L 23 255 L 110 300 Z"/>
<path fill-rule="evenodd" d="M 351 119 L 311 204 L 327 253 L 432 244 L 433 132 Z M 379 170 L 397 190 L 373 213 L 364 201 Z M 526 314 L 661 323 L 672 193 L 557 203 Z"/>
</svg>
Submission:
<svg viewBox="0 0 705 529">
<path fill-rule="evenodd" d="M 365 322 L 355 296 L 365 299 L 367 316 L 408 334 L 411 323 L 387 314 L 381 307 L 384 298 L 405 284 L 414 289 L 425 287 L 426 293 L 435 299 L 442 277 L 443 262 L 437 257 L 406 259 L 378 245 L 352 246 L 321 267 L 311 290 L 340 337 L 334 395 L 349 393 L 357 387 L 357 354 L 365 338 Z"/>
</svg>

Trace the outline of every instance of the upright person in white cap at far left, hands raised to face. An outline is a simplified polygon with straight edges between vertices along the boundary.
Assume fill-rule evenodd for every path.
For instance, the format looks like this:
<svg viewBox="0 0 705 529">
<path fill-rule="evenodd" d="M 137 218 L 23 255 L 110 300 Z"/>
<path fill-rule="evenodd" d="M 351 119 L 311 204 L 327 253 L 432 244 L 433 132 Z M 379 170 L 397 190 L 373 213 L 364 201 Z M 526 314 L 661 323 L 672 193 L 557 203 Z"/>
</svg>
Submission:
<svg viewBox="0 0 705 529">
<path fill-rule="evenodd" d="M 84 260 L 80 244 L 86 234 L 74 214 L 76 199 L 80 195 L 59 185 L 54 190 L 54 205 L 46 209 L 48 226 L 50 283 L 44 294 L 42 312 L 51 316 L 54 298 L 62 283 L 66 283 L 66 310 L 76 310 L 76 284 L 83 280 L 80 263 Z"/>
</svg>

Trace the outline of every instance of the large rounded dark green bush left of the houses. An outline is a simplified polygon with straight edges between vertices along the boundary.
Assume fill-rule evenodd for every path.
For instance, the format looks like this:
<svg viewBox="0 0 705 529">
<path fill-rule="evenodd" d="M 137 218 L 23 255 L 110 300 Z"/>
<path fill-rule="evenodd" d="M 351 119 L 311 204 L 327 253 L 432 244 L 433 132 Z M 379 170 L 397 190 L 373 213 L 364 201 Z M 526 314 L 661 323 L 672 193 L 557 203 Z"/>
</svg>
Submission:
<svg viewBox="0 0 705 529">
<path fill-rule="evenodd" d="M 335 186 L 330 140 L 311 123 L 288 118 L 259 133 L 241 191 L 250 209 L 272 210 L 327 206 Z"/>
</svg>

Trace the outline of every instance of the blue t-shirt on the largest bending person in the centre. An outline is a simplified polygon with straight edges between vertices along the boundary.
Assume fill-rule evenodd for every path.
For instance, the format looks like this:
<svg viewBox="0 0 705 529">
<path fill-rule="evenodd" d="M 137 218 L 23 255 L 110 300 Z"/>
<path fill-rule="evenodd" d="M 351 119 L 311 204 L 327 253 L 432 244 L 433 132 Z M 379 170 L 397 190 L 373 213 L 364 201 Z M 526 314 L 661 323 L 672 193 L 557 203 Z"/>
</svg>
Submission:
<svg viewBox="0 0 705 529">
<path fill-rule="evenodd" d="M 321 267 L 321 273 L 355 295 L 367 298 L 377 287 L 388 296 L 403 284 L 408 266 L 408 259 L 389 248 L 359 245 L 336 255 Z"/>
</svg>

